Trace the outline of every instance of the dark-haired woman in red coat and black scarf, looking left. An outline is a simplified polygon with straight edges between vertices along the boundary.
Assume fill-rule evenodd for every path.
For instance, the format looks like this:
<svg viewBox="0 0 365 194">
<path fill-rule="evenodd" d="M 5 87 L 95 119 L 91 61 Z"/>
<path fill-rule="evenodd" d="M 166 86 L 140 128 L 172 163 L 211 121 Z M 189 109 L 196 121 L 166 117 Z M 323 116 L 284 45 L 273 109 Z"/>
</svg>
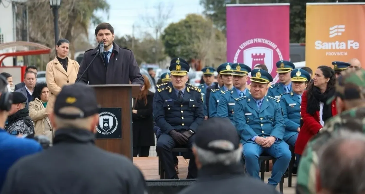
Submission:
<svg viewBox="0 0 365 194">
<path fill-rule="evenodd" d="M 295 154 L 301 155 L 308 140 L 319 132 L 327 119 L 337 114 L 335 100 L 326 104 L 334 95 L 335 81 L 335 72 L 331 67 L 319 66 L 314 73 L 313 83 L 304 91 L 300 107 L 303 126 L 295 143 Z"/>
</svg>

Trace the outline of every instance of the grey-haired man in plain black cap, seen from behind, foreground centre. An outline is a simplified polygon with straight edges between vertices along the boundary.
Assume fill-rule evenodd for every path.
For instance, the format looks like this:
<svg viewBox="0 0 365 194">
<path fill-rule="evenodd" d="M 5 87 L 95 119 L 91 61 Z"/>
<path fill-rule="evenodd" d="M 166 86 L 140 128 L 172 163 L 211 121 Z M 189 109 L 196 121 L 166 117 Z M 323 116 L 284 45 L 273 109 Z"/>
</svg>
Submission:
<svg viewBox="0 0 365 194">
<path fill-rule="evenodd" d="M 245 176 L 242 144 L 227 118 L 205 120 L 193 143 L 199 179 L 179 194 L 278 194 L 264 182 Z"/>
</svg>

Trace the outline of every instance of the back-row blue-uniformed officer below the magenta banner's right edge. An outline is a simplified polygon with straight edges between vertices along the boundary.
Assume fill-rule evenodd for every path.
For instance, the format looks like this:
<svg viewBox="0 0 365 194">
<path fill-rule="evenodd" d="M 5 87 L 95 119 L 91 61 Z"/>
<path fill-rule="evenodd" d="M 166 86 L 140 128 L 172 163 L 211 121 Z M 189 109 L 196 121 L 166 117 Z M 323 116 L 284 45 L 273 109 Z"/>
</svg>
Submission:
<svg viewBox="0 0 365 194">
<path fill-rule="evenodd" d="M 284 94 L 285 92 L 291 92 L 292 91 L 292 83 L 290 81 L 290 73 L 293 69 L 295 69 L 295 66 L 290 61 L 278 61 L 276 63 L 276 72 L 279 74 L 279 83 L 272 84 L 268 91 L 268 96 L 272 96 L 274 98 L 280 98 L 281 94 Z"/>
</svg>

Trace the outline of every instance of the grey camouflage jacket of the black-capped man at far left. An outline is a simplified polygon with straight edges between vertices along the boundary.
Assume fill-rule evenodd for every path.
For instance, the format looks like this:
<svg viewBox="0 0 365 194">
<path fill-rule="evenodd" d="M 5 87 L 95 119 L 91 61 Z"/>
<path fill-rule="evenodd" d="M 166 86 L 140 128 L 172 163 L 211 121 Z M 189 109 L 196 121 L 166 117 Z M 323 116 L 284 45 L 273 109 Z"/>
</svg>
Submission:
<svg viewBox="0 0 365 194">
<path fill-rule="evenodd" d="M 21 134 L 31 135 L 34 133 L 34 123 L 30 118 L 20 118 L 15 122 L 8 123 L 5 126 L 5 131 L 11 133 L 12 131 L 19 131 Z"/>
</svg>

